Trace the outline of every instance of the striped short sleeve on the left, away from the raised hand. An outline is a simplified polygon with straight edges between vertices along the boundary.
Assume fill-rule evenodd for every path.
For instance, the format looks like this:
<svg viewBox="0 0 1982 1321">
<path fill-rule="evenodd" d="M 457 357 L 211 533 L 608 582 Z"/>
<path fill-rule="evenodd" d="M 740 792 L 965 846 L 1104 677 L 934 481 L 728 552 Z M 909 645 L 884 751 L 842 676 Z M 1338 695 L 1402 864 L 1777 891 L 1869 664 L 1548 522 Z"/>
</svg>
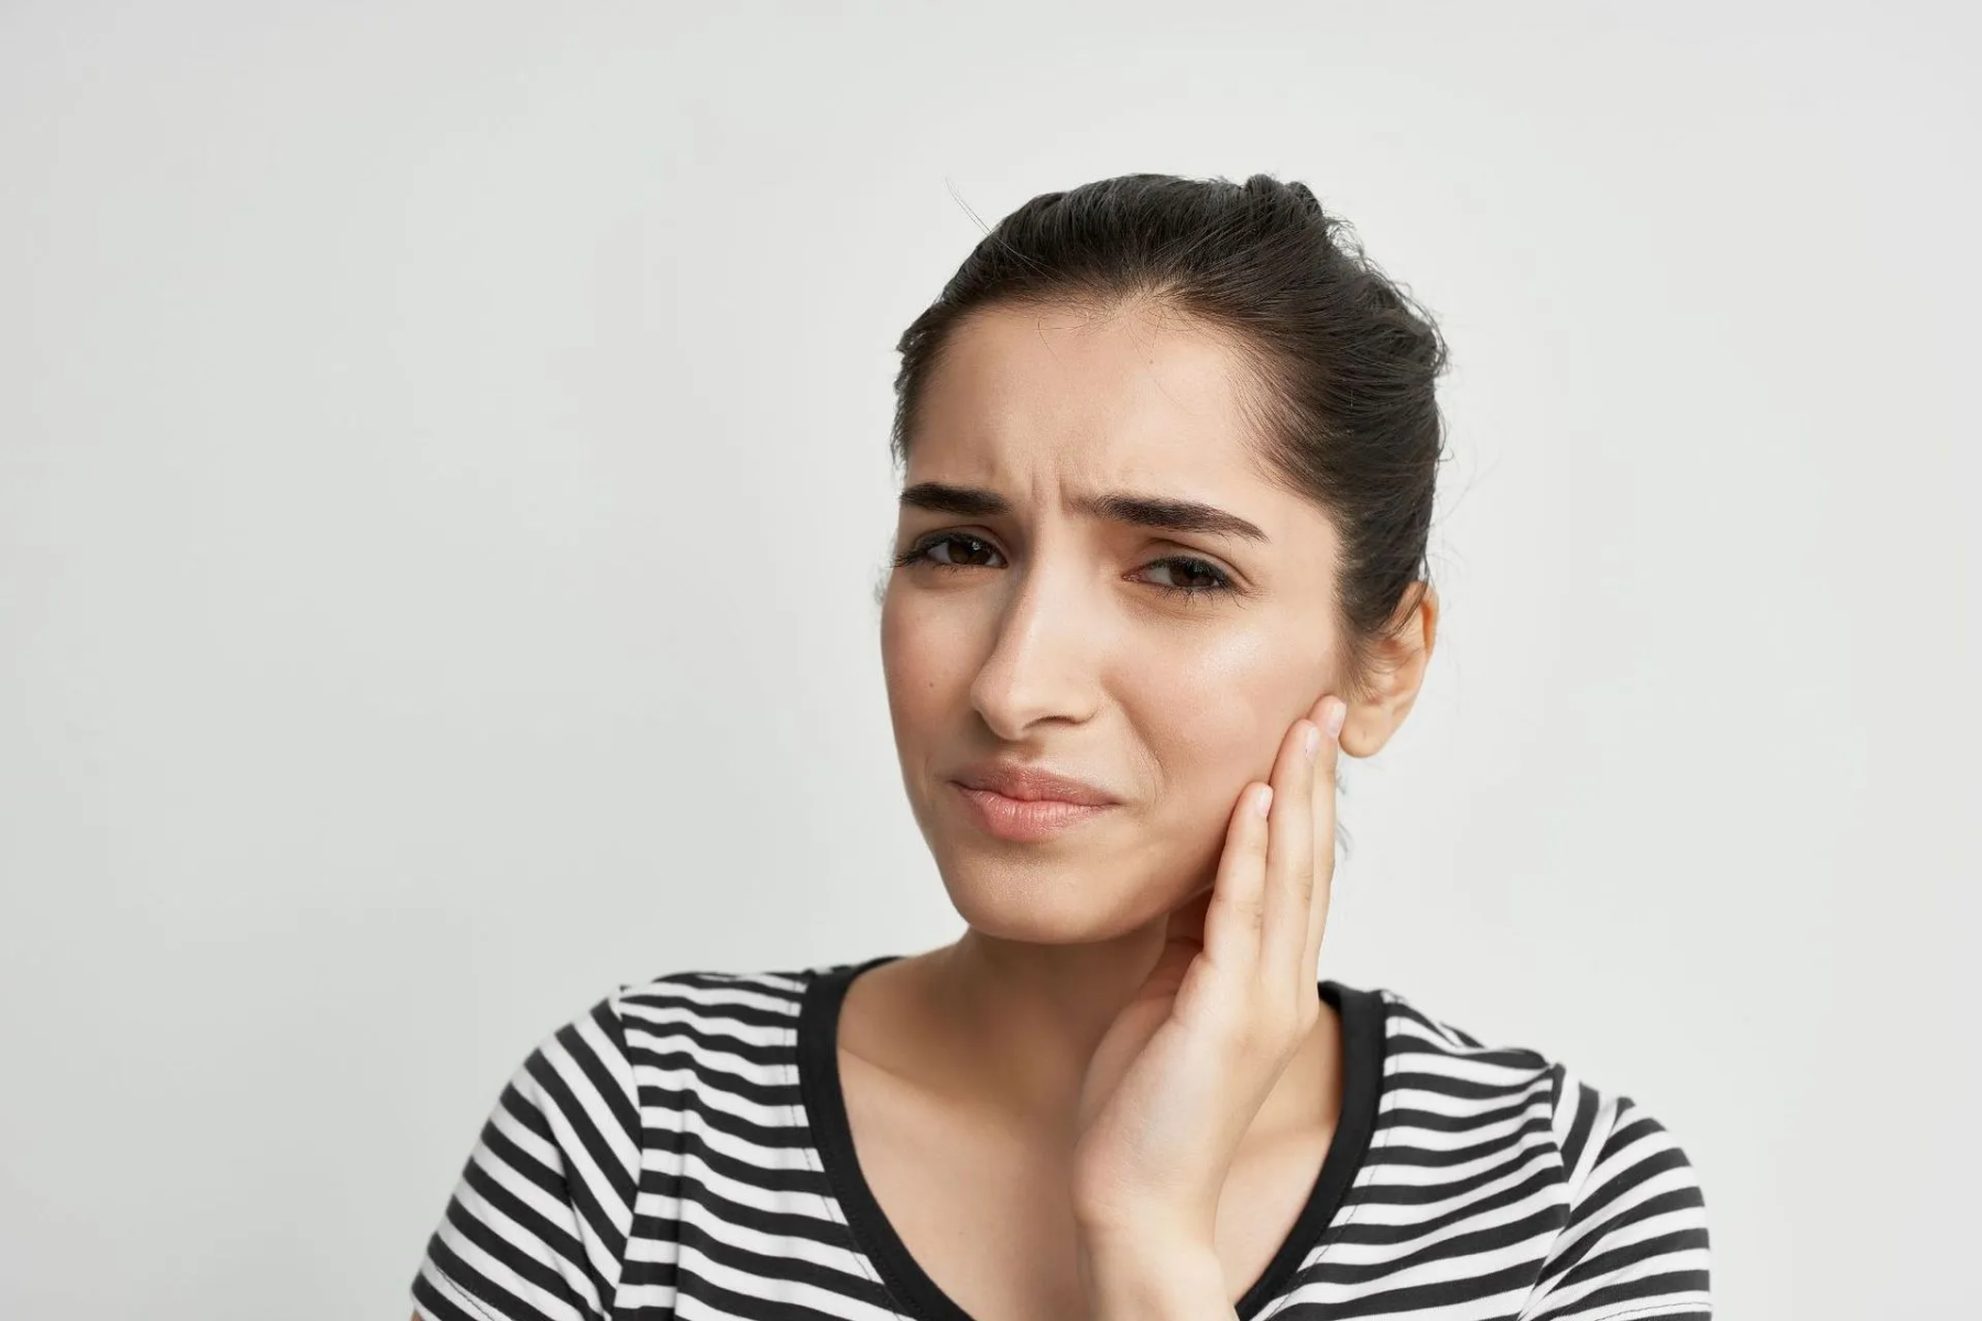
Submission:
<svg viewBox="0 0 1982 1321">
<path fill-rule="evenodd" d="M 614 998 L 503 1085 L 412 1279 L 428 1321 L 606 1321 L 632 1228 L 640 1107 Z"/>
</svg>

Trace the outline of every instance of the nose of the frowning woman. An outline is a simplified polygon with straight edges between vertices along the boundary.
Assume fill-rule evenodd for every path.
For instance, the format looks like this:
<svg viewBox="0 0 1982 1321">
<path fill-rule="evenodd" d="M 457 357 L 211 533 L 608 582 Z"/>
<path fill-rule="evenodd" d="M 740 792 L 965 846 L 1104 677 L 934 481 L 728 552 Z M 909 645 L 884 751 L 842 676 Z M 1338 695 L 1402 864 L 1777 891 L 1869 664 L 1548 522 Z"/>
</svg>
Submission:
<svg viewBox="0 0 1982 1321">
<path fill-rule="evenodd" d="M 971 705 L 999 739 L 1019 743 L 1039 725 L 1080 725 L 1098 703 L 1102 606 L 1080 568 L 1029 562 L 1007 574 L 1009 596 L 991 654 L 971 681 Z"/>
</svg>

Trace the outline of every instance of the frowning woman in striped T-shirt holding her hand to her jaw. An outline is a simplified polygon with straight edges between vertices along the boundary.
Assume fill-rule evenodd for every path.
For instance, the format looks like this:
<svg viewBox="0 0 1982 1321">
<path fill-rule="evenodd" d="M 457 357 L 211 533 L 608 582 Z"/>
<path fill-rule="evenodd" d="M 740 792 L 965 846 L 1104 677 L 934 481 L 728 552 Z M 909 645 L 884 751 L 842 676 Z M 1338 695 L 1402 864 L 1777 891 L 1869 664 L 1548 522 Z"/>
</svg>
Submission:
<svg viewBox="0 0 1982 1321">
<path fill-rule="evenodd" d="M 622 986 L 416 1317 L 1707 1317 L 1629 1097 L 1316 980 L 1340 751 L 1431 660 L 1443 345 L 1302 184 L 1021 206 L 902 337 L 882 663 L 965 933 Z"/>
</svg>

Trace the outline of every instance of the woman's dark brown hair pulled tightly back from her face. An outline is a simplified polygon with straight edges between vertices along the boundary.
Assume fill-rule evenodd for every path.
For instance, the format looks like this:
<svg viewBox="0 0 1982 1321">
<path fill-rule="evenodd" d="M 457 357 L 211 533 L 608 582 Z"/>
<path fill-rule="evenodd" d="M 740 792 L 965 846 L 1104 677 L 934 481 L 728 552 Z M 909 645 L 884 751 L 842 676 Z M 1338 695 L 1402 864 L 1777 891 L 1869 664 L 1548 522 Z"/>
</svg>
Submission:
<svg viewBox="0 0 1982 1321">
<path fill-rule="evenodd" d="M 993 305 L 1110 315 L 1132 303 L 1193 319 L 1251 364 L 1245 400 L 1270 467 L 1342 543 L 1340 687 L 1360 695 L 1377 642 L 1429 586 L 1445 341 L 1306 184 L 1122 174 L 1043 192 L 1005 216 L 896 343 L 896 461 L 908 459 L 918 404 L 963 317 Z"/>
</svg>

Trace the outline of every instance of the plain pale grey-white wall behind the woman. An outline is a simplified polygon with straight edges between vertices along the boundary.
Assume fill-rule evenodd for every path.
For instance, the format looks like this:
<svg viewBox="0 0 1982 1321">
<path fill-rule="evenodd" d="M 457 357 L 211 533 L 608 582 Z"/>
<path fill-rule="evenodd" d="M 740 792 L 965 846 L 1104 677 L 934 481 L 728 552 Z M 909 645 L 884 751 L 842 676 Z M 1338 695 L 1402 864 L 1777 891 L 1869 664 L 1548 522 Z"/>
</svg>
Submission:
<svg viewBox="0 0 1982 1321">
<path fill-rule="evenodd" d="M 872 590 L 985 224 L 1308 182 L 1443 321 L 1322 972 L 1701 1170 L 1728 1317 L 1974 1303 L 1976 22 L 0 8 L 0 1313 L 404 1317 L 618 982 L 951 939 Z"/>
</svg>

